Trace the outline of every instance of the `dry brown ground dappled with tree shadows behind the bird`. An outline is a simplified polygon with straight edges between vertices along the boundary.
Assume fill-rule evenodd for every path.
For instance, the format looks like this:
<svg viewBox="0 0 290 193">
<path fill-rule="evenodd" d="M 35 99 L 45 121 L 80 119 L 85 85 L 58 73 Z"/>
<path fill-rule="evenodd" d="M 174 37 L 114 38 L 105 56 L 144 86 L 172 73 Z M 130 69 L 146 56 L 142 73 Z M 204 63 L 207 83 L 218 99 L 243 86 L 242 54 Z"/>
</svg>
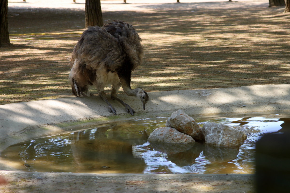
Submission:
<svg viewBox="0 0 290 193">
<path fill-rule="evenodd" d="M 128 21 L 143 40 L 146 54 L 132 73 L 132 88 L 168 91 L 290 83 L 290 15 L 284 8 L 268 8 L 268 1 L 136 2 L 102 1 L 105 23 Z M 82 32 L 84 4 L 76 5 L 10 6 L 10 34 Z M 79 34 L 10 39 L 72 35 Z M 11 41 L 13 46 L 0 48 L 0 104 L 71 96 L 69 58 L 77 40 Z"/>
</svg>

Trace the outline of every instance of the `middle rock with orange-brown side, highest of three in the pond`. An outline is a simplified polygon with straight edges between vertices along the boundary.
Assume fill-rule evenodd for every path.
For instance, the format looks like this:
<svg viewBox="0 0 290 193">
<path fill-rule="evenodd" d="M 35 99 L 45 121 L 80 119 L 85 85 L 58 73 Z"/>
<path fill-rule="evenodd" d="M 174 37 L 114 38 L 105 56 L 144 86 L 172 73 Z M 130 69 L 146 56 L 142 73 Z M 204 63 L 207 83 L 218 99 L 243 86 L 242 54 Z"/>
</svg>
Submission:
<svg viewBox="0 0 290 193">
<path fill-rule="evenodd" d="M 166 127 L 175 128 L 179 132 L 185 133 L 195 140 L 204 140 L 202 127 L 182 110 L 175 111 L 171 114 L 171 117 L 169 117 L 166 122 Z"/>
</svg>

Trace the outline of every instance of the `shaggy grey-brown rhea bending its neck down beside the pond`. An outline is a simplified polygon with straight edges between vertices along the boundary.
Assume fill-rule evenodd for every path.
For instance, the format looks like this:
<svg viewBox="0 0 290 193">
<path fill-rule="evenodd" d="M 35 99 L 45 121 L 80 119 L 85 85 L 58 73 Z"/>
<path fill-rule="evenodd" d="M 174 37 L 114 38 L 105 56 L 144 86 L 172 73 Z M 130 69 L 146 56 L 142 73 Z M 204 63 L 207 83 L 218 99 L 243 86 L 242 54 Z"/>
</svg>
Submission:
<svg viewBox="0 0 290 193">
<path fill-rule="evenodd" d="M 72 53 L 69 81 L 73 94 L 77 97 L 90 95 L 89 86 L 95 86 L 108 104 L 109 112 L 117 115 L 104 92 L 106 86 L 111 86 L 111 98 L 134 115 L 134 109 L 117 97 L 122 85 L 127 95 L 141 99 L 145 110 L 148 94 L 141 88 L 131 89 L 131 73 L 143 58 L 141 41 L 135 28 L 120 20 L 112 20 L 103 27 L 87 27 Z"/>
</svg>

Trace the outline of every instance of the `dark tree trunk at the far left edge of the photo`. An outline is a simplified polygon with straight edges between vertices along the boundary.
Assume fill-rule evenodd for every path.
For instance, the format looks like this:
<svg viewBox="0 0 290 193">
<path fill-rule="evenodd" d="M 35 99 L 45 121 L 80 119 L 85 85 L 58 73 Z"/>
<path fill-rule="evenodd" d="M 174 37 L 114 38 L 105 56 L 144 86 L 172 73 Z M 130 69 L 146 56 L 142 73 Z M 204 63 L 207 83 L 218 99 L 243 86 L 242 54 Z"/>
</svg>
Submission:
<svg viewBox="0 0 290 193">
<path fill-rule="evenodd" d="M 0 0 L 0 46 L 10 45 L 8 32 L 8 0 Z"/>
</svg>

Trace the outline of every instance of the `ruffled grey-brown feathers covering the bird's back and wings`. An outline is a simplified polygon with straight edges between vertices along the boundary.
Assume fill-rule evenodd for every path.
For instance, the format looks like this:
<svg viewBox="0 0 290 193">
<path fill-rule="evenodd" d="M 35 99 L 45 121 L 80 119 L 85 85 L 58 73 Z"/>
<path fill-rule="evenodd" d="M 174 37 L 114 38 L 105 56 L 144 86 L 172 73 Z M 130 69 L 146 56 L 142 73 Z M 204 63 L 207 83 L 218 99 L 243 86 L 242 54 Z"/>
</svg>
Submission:
<svg viewBox="0 0 290 193">
<path fill-rule="evenodd" d="M 86 68 L 98 69 L 105 65 L 114 71 L 130 58 L 134 70 L 143 57 L 140 41 L 134 27 L 122 21 L 113 21 L 104 27 L 88 27 L 79 38 L 71 61 L 81 58 L 79 65 L 85 64 Z"/>
</svg>

